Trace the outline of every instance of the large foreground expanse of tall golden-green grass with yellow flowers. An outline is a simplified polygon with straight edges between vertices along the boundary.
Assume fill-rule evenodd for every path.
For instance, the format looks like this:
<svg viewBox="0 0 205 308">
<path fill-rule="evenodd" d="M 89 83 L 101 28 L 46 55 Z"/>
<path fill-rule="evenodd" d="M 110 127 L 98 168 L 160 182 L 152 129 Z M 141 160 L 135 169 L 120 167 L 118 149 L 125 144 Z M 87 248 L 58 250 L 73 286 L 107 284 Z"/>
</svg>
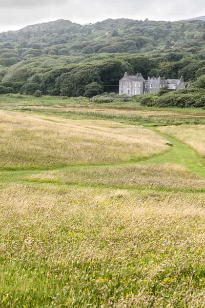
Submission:
<svg viewBox="0 0 205 308">
<path fill-rule="evenodd" d="M 205 195 L 1 184 L 1 306 L 204 306 Z"/>
</svg>

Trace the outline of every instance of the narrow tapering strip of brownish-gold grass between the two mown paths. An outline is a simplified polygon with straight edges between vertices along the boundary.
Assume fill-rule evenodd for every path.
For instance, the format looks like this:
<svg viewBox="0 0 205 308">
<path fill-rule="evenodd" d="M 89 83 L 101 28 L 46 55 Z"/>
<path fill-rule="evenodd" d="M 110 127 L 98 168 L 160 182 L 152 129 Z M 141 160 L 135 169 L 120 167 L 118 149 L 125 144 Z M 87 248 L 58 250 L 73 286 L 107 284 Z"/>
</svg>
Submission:
<svg viewBox="0 0 205 308">
<path fill-rule="evenodd" d="M 25 180 L 56 184 L 114 186 L 124 188 L 205 189 L 205 179 L 180 165 L 163 164 L 47 171 Z"/>
</svg>

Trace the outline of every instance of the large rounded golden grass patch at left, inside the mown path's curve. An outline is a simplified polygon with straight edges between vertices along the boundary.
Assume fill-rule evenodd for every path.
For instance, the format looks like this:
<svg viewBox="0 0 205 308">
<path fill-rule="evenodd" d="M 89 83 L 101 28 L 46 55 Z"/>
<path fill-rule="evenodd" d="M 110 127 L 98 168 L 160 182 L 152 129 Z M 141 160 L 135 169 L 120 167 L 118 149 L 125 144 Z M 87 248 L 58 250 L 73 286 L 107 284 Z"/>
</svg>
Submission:
<svg viewBox="0 0 205 308">
<path fill-rule="evenodd" d="M 142 127 L 9 111 L 0 111 L 0 143 L 1 168 L 117 163 L 168 148 L 165 139 Z"/>
</svg>

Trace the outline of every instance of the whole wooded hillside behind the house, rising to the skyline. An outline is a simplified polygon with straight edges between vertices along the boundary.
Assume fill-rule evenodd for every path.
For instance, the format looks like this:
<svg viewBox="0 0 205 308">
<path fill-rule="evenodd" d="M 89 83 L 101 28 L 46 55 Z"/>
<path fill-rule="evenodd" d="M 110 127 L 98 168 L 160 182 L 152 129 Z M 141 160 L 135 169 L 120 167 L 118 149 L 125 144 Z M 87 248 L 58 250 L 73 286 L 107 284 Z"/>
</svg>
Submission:
<svg viewBox="0 0 205 308">
<path fill-rule="evenodd" d="M 117 92 L 125 71 L 141 72 L 145 78 L 183 75 L 191 84 L 182 91 L 183 97 L 193 92 L 203 96 L 205 22 L 120 19 L 82 26 L 59 20 L 0 33 L 1 94 L 39 90 L 49 95 L 92 97 Z M 201 90 L 196 91 L 199 85 Z M 155 105 L 157 100 L 144 104 Z M 195 107 L 205 106 L 201 102 Z"/>
</svg>

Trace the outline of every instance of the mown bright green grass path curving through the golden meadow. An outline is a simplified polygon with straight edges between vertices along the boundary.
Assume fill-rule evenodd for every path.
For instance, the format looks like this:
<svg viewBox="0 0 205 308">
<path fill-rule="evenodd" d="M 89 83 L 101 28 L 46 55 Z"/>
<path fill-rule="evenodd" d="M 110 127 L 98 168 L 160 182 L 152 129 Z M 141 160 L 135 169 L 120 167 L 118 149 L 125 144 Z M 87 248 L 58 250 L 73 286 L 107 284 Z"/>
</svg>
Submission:
<svg viewBox="0 0 205 308">
<path fill-rule="evenodd" d="M 66 166 L 62 168 L 56 168 L 55 170 L 79 170 L 79 169 L 94 169 L 94 168 L 106 168 L 106 167 L 128 167 L 136 165 L 157 165 L 165 163 L 178 164 L 191 170 L 201 178 L 205 178 L 205 163 L 198 155 L 198 153 L 181 141 L 178 141 L 165 133 L 159 132 L 156 128 L 149 127 L 152 131 L 165 138 L 170 144 L 170 149 L 160 155 L 153 155 L 151 158 L 143 159 L 137 162 L 125 162 L 118 164 L 106 164 L 106 165 L 84 165 L 84 166 Z M 35 175 L 44 173 L 46 170 L 16 170 L 16 171 L 0 171 L 0 181 L 21 181 L 29 175 Z"/>
</svg>

